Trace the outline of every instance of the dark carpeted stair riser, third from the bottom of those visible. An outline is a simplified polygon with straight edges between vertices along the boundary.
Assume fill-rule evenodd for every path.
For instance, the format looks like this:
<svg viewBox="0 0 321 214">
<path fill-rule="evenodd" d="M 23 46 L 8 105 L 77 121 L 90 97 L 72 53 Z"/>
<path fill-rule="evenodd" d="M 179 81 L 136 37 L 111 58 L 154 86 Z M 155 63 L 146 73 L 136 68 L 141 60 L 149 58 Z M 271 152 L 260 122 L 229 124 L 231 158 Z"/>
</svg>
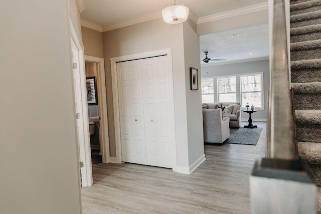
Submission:
<svg viewBox="0 0 321 214">
<path fill-rule="evenodd" d="M 319 94 L 295 94 L 295 109 L 321 109 L 321 96 Z"/>
</svg>

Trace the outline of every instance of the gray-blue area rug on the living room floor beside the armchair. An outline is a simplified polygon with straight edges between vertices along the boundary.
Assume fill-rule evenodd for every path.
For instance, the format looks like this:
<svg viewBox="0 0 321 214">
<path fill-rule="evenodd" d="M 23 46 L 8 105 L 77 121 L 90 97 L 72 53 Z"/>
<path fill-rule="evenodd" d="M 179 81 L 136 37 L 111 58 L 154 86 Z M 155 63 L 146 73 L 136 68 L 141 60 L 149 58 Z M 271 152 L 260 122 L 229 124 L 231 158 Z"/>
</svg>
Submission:
<svg viewBox="0 0 321 214">
<path fill-rule="evenodd" d="M 230 137 L 224 143 L 256 145 L 262 128 L 230 128 Z"/>
</svg>

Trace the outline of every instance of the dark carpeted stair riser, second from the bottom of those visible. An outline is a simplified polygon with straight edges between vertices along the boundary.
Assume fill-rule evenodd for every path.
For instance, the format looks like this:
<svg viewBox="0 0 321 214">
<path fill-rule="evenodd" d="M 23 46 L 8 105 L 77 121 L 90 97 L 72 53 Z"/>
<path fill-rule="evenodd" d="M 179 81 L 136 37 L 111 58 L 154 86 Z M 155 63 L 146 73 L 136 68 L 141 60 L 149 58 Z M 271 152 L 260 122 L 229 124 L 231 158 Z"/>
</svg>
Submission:
<svg viewBox="0 0 321 214">
<path fill-rule="evenodd" d="M 297 125 L 296 138 L 298 141 L 321 143 L 320 125 Z"/>
</svg>

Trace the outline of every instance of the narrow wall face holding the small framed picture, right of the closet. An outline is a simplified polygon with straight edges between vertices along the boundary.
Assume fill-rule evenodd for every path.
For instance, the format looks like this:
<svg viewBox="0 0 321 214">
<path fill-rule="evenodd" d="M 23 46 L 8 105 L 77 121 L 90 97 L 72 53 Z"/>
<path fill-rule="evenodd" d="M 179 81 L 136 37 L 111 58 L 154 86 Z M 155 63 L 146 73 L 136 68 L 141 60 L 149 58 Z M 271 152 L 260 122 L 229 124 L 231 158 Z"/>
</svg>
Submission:
<svg viewBox="0 0 321 214">
<path fill-rule="evenodd" d="M 200 36 L 196 33 L 197 25 L 190 19 L 183 24 L 185 85 L 187 102 L 187 128 L 189 145 L 189 165 L 204 154 L 203 113 L 201 108 L 201 61 Z M 190 68 L 199 70 L 199 90 L 191 90 Z"/>
</svg>

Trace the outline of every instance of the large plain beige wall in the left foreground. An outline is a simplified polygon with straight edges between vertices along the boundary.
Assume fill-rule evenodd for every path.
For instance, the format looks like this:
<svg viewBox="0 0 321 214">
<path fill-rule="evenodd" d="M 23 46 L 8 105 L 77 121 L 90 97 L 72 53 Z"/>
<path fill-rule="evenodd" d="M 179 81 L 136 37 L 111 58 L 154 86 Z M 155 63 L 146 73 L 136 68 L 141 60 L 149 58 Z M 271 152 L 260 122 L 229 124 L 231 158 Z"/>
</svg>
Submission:
<svg viewBox="0 0 321 214">
<path fill-rule="evenodd" d="M 80 213 L 65 0 L 1 1 L 0 212 Z"/>
</svg>

